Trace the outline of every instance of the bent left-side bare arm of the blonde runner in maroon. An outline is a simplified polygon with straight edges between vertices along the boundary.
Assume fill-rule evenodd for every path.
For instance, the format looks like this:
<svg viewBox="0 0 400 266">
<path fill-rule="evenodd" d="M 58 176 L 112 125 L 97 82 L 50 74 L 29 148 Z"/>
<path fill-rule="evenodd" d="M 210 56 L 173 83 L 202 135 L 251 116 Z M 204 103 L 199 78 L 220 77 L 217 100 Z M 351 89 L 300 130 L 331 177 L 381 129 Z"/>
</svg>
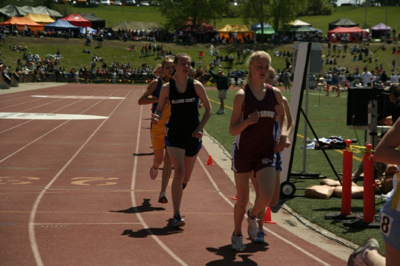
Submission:
<svg viewBox="0 0 400 266">
<path fill-rule="evenodd" d="M 258 111 L 250 114 L 246 119 L 242 119 L 242 106 L 244 102 L 244 90 L 239 89 L 233 100 L 232 114 L 230 115 L 229 134 L 236 136 L 240 134 L 247 126 L 258 122 Z"/>
</svg>

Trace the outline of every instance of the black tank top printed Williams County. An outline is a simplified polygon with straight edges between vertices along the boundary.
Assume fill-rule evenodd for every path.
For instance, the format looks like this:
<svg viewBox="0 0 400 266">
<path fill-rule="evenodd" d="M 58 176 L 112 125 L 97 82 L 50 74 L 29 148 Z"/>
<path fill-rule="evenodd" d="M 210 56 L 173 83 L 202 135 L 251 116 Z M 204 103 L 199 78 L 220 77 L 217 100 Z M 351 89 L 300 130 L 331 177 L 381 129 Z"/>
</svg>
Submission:
<svg viewBox="0 0 400 266">
<path fill-rule="evenodd" d="M 171 116 L 166 126 L 169 129 L 192 133 L 200 123 L 198 96 L 194 90 L 193 79 L 187 79 L 186 90 L 183 93 L 176 90 L 174 79 L 169 81 L 168 98 L 171 105 Z"/>
</svg>

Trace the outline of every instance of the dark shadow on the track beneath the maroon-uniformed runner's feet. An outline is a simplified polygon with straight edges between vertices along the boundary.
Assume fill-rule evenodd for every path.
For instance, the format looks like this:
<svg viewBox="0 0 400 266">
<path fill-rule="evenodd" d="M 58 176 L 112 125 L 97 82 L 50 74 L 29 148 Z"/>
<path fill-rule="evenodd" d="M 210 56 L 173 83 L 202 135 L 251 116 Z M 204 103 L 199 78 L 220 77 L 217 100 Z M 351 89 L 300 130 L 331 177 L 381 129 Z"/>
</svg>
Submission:
<svg viewBox="0 0 400 266">
<path fill-rule="evenodd" d="M 257 265 L 256 262 L 251 261 L 249 259 L 249 257 L 251 257 L 252 255 L 243 254 L 243 253 L 256 253 L 256 252 L 263 252 L 263 251 L 268 250 L 268 248 L 266 247 L 266 246 L 268 246 L 267 243 L 263 243 L 263 244 L 248 243 L 245 246 L 246 246 L 246 250 L 244 252 L 242 252 L 241 254 L 234 252 L 232 250 L 231 245 L 222 246 L 222 247 L 219 247 L 218 249 L 206 248 L 207 251 L 215 253 L 215 255 L 222 256 L 223 259 L 218 260 L 218 261 L 212 261 L 205 265 L 207 265 L 207 266 L 236 265 L 236 264 L 237 265 Z M 236 255 L 242 259 L 241 262 L 235 261 Z"/>
</svg>

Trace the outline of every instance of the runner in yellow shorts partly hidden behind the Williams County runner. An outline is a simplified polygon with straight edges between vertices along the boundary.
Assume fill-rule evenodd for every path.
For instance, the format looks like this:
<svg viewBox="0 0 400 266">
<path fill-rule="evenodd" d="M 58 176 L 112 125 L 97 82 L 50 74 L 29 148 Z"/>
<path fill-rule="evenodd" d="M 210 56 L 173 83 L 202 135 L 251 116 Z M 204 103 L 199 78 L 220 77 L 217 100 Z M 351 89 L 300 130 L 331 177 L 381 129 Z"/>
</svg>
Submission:
<svg viewBox="0 0 400 266">
<path fill-rule="evenodd" d="M 159 69 L 157 67 L 157 69 Z M 157 108 L 157 103 L 159 100 L 159 94 L 161 91 L 161 86 L 169 81 L 173 71 L 173 61 L 170 58 L 167 58 L 162 61 L 160 64 L 160 69 L 162 73 L 158 72 L 162 77 L 158 76 L 153 79 L 150 84 L 148 84 L 147 89 L 143 92 L 138 100 L 138 104 L 152 104 L 151 113 L 155 112 Z M 156 72 L 156 73 L 157 73 Z M 150 136 L 151 136 L 151 144 L 153 146 L 154 159 L 153 165 L 150 168 L 150 178 L 155 179 L 158 174 L 158 167 L 164 161 L 164 166 L 162 170 L 161 176 L 161 192 L 158 196 L 159 203 L 167 203 L 165 190 L 168 185 L 169 177 L 172 172 L 172 163 L 169 159 L 168 153 L 165 153 L 165 123 L 168 121 L 170 115 L 170 105 L 168 103 L 164 104 L 163 113 L 165 116 L 162 120 L 159 121 L 158 124 L 150 125 Z"/>
</svg>

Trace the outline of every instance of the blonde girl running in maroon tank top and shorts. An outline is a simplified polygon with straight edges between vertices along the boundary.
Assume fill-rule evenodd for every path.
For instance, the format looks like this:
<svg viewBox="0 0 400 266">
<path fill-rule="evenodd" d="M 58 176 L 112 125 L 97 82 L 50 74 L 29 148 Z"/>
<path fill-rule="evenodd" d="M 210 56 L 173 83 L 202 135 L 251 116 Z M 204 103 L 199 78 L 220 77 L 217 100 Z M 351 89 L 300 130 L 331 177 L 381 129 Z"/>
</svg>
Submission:
<svg viewBox="0 0 400 266">
<path fill-rule="evenodd" d="M 237 91 L 230 117 L 229 133 L 236 136 L 232 149 L 232 170 L 237 191 L 234 206 L 234 231 L 232 248 L 243 251 L 241 224 L 249 198 L 249 178 L 256 178 L 258 195 L 247 211 L 247 233 L 254 238 L 258 231 L 256 214 L 269 205 L 275 186 L 274 153 L 282 151 L 286 142 L 287 120 L 282 104 L 282 94 L 277 88 L 266 85 L 271 57 L 264 51 L 253 52 L 248 58 L 244 89 Z M 281 135 L 275 143 L 273 128 L 275 111 Z"/>
</svg>

